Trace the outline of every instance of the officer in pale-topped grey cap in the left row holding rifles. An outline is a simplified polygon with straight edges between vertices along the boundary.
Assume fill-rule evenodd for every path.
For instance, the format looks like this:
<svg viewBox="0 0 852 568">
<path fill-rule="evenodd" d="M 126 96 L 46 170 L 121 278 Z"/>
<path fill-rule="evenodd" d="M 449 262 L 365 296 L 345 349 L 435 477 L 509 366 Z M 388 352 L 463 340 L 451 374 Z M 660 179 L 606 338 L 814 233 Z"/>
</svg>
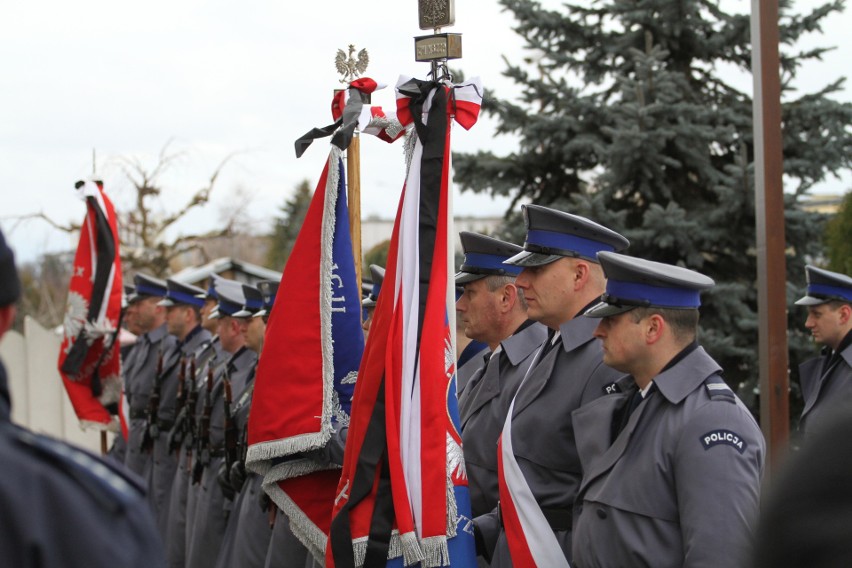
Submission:
<svg viewBox="0 0 852 568">
<path fill-rule="evenodd" d="M 187 568 L 210 568 L 219 556 L 233 497 L 231 491 L 226 494 L 219 484 L 219 468 L 226 458 L 225 389 L 242 392 L 257 362 L 257 355 L 245 345 L 246 322 L 235 317 L 245 304 L 245 296 L 239 283 L 232 282 L 215 281 L 219 302 L 210 317 L 217 320 L 219 342 L 227 361 L 199 391 L 202 410 L 193 473 L 200 490 L 192 504 L 194 511 L 190 511 L 187 499 Z"/>
</svg>

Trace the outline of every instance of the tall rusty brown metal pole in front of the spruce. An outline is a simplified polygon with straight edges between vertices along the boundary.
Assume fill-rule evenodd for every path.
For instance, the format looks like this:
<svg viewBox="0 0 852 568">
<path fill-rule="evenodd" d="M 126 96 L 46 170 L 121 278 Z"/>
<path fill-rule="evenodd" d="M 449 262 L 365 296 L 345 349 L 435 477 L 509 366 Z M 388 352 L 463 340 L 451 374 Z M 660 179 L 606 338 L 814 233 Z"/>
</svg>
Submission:
<svg viewBox="0 0 852 568">
<path fill-rule="evenodd" d="M 790 435 L 778 0 L 752 0 L 751 40 L 760 423 L 771 473 Z"/>
</svg>

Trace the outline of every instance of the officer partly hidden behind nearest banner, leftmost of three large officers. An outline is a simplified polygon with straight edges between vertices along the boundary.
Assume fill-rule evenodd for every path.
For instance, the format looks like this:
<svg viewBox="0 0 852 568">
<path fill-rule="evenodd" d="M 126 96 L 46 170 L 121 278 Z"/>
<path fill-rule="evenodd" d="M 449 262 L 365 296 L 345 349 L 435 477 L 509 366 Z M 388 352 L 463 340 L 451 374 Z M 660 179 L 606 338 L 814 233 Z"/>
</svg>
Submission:
<svg viewBox="0 0 852 568">
<path fill-rule="evenodd" d="M 503 261 L 523 249 L 477 233 L 462 232 L 464 262 L 456 285 L 464 293 L 456 311 L 464 334 L 488 345 L 486 362 L 459 393 L 465 471 L 474 516 L 497 506 L 497 439 L 509 404 L 547 328 L 527 318 L 527 304 L 515 286 L 517 266 Z"/>
</svg>

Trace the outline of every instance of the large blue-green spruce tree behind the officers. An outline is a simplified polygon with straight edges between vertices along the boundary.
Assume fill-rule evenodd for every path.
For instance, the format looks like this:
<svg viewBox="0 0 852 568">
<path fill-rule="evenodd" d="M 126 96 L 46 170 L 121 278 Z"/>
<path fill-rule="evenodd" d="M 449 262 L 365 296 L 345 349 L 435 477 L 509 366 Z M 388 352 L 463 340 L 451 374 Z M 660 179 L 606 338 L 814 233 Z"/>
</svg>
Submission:
<svg viewBox="0 0 852 568">
<path fill-rule="evenodd" d="M 752 100 L 721 69 L 750 73 L 748 14 L 712 0 L 598 0 L 544 9 L 500 0 L 517 20 L 525 60 L 507 58 L 516 93 L 487 93 L 506 156 L 455 157 L 463 189 L 588 216 L 627 236 L 628 254 L 699 270 L 701 342 L 756 410 L 757 297 Z M 796 51 L 842 10 L 831 1 L 795 15 L 782 0 L 783 136 L 791 368 L 812 352 L 802 332 L 804 264 L 819 253 L 822 219 L 798 199 L 852 166 L 852 105 L 825 89 L 797 94 L 797 69 L 824 49 Z M 800 3 L 801 4 L 801 3 Z M 801 7 L 801 6 L 799 6 Z M 518 208 L 513 208 L 517 214 Z M 504 235 L 517 233 L 509 222 Z M 515 235 L 517 236 L 517 235 Z M 777 306 L 785 309 L 785 306 Z M 794 407 L 793 413 L 796 412 Z"/>
</svg>

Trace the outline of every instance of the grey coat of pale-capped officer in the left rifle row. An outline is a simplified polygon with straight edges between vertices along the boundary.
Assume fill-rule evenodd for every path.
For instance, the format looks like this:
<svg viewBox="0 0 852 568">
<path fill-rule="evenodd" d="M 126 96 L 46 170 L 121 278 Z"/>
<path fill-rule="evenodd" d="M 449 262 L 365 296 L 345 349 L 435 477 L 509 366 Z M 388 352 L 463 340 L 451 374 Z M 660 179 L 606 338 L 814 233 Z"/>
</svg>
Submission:
<svg viewBox="0 0 852 568">
<path fill-rule="evenodd" d="M 242 392 L 246 379 L 249 373 L 254 372 L 256 364 L 257 354 L 242 348 L 230 357 L 221 367 L 222 372 L 215 377 L 213 408 L 210 414 L 210 464 L 204 468 L 201 476 L 200 489 L 191 515 L 187 509 L 187 568 L 210 568 L 216 563 L 232 504 L 225 498 L 218 481 L 219 466 L 225 461 L 224 375 L 228 373 L 233 392 Z"/>
</svg>

